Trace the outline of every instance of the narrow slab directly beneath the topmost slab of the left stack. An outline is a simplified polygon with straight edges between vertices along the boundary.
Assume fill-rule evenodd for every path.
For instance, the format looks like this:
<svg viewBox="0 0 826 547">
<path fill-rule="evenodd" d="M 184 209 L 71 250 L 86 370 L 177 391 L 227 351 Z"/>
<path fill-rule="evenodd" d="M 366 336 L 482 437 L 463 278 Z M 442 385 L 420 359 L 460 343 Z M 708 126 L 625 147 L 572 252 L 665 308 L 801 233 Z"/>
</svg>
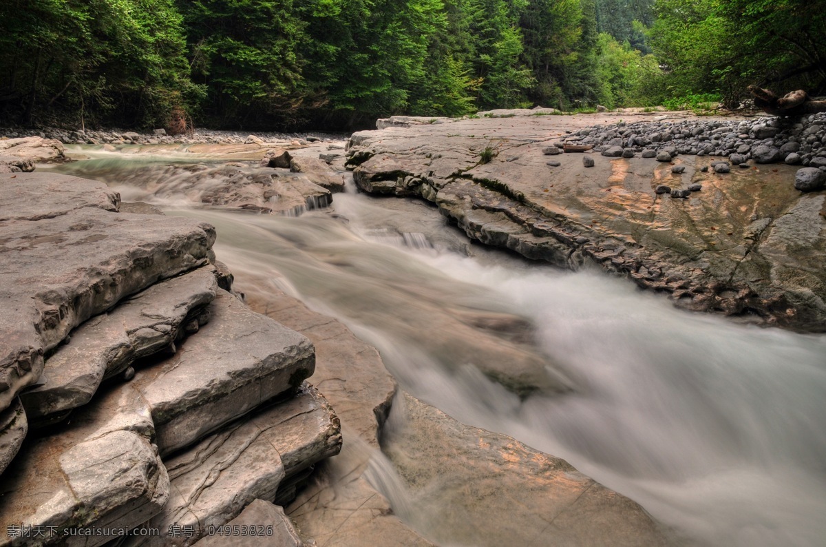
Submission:
<svg viewBox="0 0 826 547">
<path fill-rule="evenodd" d="M 46 359 L 45 383 L 21 394 L 30 419 L 88 403 L 102 380 L 177 340 L 181 326 L 215 298 L 216 290 L 212 269 L 200 268 L 155 283 L 78 326 L 71 342 Z"/>
</svg>

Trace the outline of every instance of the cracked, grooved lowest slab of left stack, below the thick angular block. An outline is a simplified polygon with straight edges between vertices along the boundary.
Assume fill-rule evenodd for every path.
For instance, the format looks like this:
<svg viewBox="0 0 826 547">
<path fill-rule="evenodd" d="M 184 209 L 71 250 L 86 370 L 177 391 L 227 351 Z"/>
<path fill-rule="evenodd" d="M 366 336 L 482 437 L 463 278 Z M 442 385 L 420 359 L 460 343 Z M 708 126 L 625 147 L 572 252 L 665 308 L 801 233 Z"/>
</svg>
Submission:
<svg viewBox="0 0 826 547">
<path fill-rule="evenodd" d="M 340 448 L 338 418 L 324 397 L 305 384 L 295 397 L 225 426 L 166 459 L 173 493 L 146 525 L 161 534 L 135 537 L 127 545 L 192 545 L 207 535 L 226 542 L 228 537 L 216 536 L 216 529 L 254 500 L 273 499 L 291 478 L 338 454 Z M 170 535 L 169 530 L 178 526 L 188 527 L 192 535 Z"/>
</svg>

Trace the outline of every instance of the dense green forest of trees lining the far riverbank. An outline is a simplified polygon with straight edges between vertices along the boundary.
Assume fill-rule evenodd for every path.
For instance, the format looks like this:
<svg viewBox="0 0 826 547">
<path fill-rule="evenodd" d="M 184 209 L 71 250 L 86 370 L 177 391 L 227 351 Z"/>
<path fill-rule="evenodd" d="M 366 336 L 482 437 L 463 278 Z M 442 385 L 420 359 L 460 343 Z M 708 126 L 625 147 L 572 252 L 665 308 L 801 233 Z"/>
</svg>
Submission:
<svg viewBox="0 0 826 547">
<path fill-rule="evenodd" d="M 824 44 L 824 0 L 3 0 L 0 125 L 738 107 L 824 93 Z"/>
</svg>

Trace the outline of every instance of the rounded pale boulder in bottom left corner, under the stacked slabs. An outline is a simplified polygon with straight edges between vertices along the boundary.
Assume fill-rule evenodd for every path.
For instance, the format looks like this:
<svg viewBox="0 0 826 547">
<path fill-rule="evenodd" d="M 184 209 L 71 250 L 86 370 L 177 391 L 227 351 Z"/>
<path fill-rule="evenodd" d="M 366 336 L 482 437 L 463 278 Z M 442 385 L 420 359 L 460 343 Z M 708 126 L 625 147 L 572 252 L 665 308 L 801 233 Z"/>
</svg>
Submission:
<svg viewBox="0 0 826 547">
<path fill-rule="evenodd" d="M 149 407 L 127 387 L 29 442 L 2 476 L 0 545 L 102 545 L 150 519 L 169 498 L 153 437 Z"/>
</svg>

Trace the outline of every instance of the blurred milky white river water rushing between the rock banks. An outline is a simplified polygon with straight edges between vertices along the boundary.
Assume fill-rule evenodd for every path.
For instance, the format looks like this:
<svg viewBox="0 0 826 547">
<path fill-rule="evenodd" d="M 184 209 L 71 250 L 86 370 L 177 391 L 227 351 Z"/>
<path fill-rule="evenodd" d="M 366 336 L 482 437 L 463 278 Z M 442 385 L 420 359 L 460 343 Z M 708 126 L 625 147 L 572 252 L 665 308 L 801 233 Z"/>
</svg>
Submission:
<svg viewBox="0 0 826 547">
<path fill-rule="evenodd" d="M 344 321 L 402 388 L 459 421 L 567 459 L 691 542 L 826 543 L 826 336 L 682 312 L 601 272 L 487 250 L 414 200 L 337 194 L 297 217 L 204 209 L 158 192 L 163 158 L 141 159 L 157 177 L 127 187 L 130 159 L 93 157 L 59 169 L 211 222 L 230 269 Z M 531 343 L 501 347 L 570 390 L 525 397 L 480 373 L 501 359 L 491 329 L 454 327 L 480 315 L 529 321 Z M 415 523 L 415 500 L 380 471 Z"/>
</svg>

